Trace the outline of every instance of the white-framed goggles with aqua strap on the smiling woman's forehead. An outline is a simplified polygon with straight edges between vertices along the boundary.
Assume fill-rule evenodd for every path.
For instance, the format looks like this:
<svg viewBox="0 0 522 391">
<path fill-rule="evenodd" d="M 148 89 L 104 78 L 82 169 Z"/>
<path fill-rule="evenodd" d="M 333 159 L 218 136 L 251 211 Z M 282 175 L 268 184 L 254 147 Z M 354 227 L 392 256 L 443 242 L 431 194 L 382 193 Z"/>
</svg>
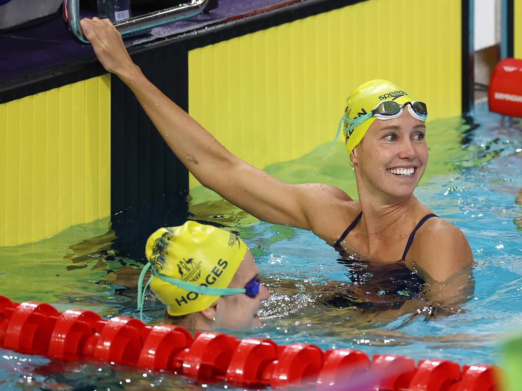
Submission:
<svg viewBox="0 0 522 391">
<path fill-rule="evenodd" d="M 343 122 L 349 124 L 349 126 L 345 126 L 343 129 L 345 132 L 350 132 L 350 130 L 355 127 L 361 125 L 366 119 L 375 117 L 377 119 L 393 119 L 397 118 L 402 114 L 402 109 L 408 107 L 408 112 L 411 114 L 413 118 L 417 118 L 421 121 L 425 121 L 428 118 L 428 108 L 424 102 L 406 102 L 404 104 L 397 103 L 395 101 L 383 101 L 380 102 L 375 108 L 367 114 L 364 114 L 360 117 L 349 119 L 346 117 L 346 113 L 343 114 L 341 120 L 339 121 L 339 126 L 337 128 L 337 134 L 335 135 L 334 143 L 337 141 L 339 137 L 339 133 L 341 130 L 341 126 Z M 351 133 L 350 133 L 351 134 Z"/>
</svg>

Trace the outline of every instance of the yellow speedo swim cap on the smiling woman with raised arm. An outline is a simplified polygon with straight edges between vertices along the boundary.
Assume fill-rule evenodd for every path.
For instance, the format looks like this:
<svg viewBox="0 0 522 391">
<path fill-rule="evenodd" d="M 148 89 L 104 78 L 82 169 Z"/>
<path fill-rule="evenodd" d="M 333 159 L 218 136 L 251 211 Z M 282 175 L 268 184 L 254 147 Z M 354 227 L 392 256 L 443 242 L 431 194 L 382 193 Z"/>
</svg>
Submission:
<svg viewBox="0 0 522 391">
<path fill-rule="evenodd" d="M 370 113 L 380 102 L 389 100 L 396 101 L 399 104 L 404 104 L 408 101 L 413 102 L 406 91 L 388 80 L 375 79 L 367 81 L 359 85 L 359 87 L 348 96 L 346 100 L 345 117 L 350 120 L 361 117 Z M 370 117 L 349 132 L 345 130 L 346 149 L 348 153 L 351 153 L 353 149 L 359 145 L 374 120 L 374 117 Z M 342 120 L 343 128 L 349 126 L 350 124 Z"/>
</svg>

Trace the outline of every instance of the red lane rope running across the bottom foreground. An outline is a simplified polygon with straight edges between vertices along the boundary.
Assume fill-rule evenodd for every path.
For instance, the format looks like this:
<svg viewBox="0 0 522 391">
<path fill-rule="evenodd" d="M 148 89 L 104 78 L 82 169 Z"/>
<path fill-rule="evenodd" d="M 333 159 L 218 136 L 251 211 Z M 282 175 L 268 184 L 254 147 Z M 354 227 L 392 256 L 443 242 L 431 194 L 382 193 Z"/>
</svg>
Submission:
<svg viewBox="0 0 522 391">
<path fill-rule="evenodd" d="M 58 312 L 45 303 L 15 303 L 0 296 L 0 347 L 56 360 L 96 360 L 172 371 L 201 383 L 238 387 L 381 391 L 497 391 L 493 365 L 460 365 L 375 355 L 353 349 L 321 350 L 311 344 L 277 345 L 223 333 L 146 326 L 91 311 Z"/>
</svg>

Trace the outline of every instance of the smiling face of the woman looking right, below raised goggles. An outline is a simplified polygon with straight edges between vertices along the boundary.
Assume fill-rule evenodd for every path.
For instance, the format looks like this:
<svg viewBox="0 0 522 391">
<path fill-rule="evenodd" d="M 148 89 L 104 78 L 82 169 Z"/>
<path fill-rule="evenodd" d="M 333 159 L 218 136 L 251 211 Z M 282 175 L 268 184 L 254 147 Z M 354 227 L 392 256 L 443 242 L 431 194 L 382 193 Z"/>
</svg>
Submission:
<svg viewBox="0 0 522 391">
<path fill-rule="evenodd" d="M 409 196 L 428 164 L 423 121 L 407 110 L 393 119 L 375 119 L 350 154 L 364 185 L 388 196 Z"/>
</svg>

